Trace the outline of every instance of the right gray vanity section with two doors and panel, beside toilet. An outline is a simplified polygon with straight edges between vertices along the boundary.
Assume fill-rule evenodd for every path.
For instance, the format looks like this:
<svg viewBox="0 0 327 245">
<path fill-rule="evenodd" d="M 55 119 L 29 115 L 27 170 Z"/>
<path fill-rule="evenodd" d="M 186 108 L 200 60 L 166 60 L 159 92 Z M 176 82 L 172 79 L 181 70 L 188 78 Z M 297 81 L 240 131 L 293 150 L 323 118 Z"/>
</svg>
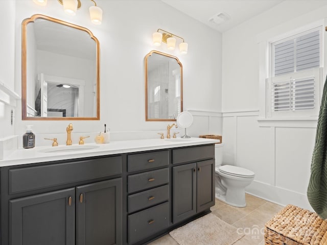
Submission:
<svg viewBox="0 0 327 245">
<path fill-rule="evenodd" d="M 173 150 L 173 164 L 180 164 L 173 167 L 174 224 L 215 205 L 214 150 L 211 145 Z"/>
</svg>

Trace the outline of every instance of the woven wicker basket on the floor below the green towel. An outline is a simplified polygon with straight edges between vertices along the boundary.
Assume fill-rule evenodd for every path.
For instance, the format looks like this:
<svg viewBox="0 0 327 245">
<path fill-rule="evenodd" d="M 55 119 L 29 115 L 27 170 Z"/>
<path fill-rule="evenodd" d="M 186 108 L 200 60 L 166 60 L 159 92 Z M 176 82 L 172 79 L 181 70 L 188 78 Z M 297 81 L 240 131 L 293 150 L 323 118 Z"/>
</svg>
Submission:
<svg viewBox="0 0 327 245">
<path fill-rule="evenodd" d="M 287 205 L 265 226 L 265 245 L 326 245 L 327 222 L 316 213 Z"/>
</svg>

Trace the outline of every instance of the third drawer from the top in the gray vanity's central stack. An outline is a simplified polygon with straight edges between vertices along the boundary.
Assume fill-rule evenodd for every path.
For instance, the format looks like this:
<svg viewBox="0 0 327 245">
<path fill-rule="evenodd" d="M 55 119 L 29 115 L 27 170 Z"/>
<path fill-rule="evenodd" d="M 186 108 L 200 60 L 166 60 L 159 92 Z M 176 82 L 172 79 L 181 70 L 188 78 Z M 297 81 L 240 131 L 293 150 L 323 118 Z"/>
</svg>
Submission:
<svg viewBox="0 0 327 245">
<path fill-rule="evenodd" d="M 162 203 L 169 200 L 169 185 L 156 187 L 128 196 L 128 212 Z"/>
</svg>

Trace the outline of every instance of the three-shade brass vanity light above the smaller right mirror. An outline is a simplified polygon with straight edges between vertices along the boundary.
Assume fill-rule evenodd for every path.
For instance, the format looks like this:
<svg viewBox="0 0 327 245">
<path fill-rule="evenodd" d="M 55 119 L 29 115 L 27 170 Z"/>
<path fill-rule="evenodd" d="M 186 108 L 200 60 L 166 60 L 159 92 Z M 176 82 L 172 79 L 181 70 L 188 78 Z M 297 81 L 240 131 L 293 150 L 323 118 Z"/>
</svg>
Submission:
<svg viewBox="0 0 327 245">
<path fill-rule="evenodd" d="M 184 55 L 188 53 L 188 43 L 184 41 L 184 38 L 179 37 L 173 33 L 164 31 L 162 29 L 158 29 L 157 32 L 154 32 L 152 34 L 152 41 L 153 44 L 156 46 L 160 46 L 161 42 L 167 43 L 167 48 L 168 50 L 174 50 L 175 45 L 176 45 L 176 38 L 178 37 L 179 39 L 182 40 L 181 43 L 179 43 L 179 53 Z"/>
</svg>

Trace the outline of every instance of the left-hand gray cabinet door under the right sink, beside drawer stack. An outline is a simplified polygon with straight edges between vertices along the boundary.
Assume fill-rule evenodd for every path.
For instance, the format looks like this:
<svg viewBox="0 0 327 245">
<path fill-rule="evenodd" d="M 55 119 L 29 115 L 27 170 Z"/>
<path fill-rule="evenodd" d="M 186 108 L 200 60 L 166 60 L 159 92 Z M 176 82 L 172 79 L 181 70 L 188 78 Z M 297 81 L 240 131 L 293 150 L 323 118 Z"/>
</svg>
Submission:
<svg viewBox="0 0 327 245">
<path fill-rule="evenodd" d="M 173 223 L 196 214 L 196 163 L 173 167 Z"/>
</svg>

